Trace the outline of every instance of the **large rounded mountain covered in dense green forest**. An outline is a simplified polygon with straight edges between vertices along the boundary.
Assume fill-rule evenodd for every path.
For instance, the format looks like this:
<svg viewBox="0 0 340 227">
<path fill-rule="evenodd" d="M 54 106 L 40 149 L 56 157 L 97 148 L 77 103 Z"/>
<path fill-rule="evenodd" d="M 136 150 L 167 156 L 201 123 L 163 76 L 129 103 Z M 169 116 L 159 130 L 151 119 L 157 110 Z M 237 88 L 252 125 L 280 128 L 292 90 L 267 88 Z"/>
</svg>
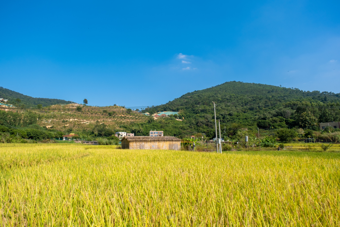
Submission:
<svg viewBox="0 0 340 227">
<path fill-rule="evenodd" d="M 221 128 L 313 128 L 340 120 L 340 94 L 266 84 L 225 82 L 187 93 L 143 112 L 179 111 L 187 132 L 214 131 L 214 106 Z M 308 123 L 307 121 L 312 121 Z"/>
</svg>

